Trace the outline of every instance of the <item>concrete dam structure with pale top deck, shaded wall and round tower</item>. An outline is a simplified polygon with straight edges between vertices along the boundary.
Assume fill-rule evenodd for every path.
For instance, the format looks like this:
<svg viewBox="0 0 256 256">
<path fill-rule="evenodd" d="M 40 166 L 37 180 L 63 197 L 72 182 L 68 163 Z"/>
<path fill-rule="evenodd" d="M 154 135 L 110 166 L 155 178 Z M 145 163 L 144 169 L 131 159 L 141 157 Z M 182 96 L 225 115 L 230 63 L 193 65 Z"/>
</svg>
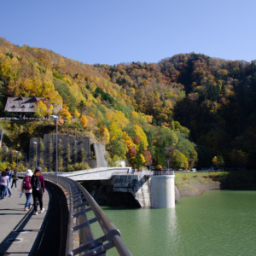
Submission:
<svg viewBox="0 0 256 256">
<path fill-rule="evenodd" d="M 91 195 L 99 205 L 175 207 L 174 171 L 132 172 L 131 167 L 101 167 L 64 172 L 62 176 L 88 181 L 84 185 L 90 188 Z"/>
</svg>

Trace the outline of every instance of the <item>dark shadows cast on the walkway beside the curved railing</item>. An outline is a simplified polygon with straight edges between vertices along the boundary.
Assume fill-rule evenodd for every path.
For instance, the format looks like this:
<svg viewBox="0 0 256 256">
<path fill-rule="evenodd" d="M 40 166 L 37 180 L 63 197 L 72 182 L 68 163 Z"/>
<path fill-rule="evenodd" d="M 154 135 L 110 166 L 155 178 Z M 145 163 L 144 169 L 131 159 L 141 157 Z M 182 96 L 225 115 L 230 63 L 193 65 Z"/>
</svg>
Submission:
<svg viewBox="0 0 256 256">
<path fill-rule="evenodd" d="M 0 243 L 0 256 L 8 256 L 13 253 L 10 252 L 9 247 L 13 244 L 13 240 L 17 239 L 20 232 L 34 232 L 36 239 L 30 252 L 22 251 L 22 255 L 28 256 L 60 256 L 65 255 L 66 241 L 67 241 L 67 224 L 68 224 L 68 208 L 66 197 L 58 186 L 54 183 L 45 182 L 45 187 L 49 193 L 49 206 L 47 214 L 45 215 L 44 223 L 40 230 L 26 230 L 26 224 L 32 218 L 33 208 L 26 212 L 24 218 L 16 224 L 15 228 L 6 236 L 2 243 Z M 24 205 L 24 204 L 23 204 Z M 20 209 L 1 209 L 2 211 L 21 211 Z M 0 210 L 0 211 L 1 211 Z M 0 213 L 0 215 L 22 215 L 23 213 Z M 34 220 L 34 219 L 32 219 Z M 1 230 L 0 230 L 1 232 Z M 9 241 L 9 240 L 12 241 Z M 20 243 L 20 247 L 23 244 Z M 21 249 L 20 249 L 21 251 Z"/>
</svg>

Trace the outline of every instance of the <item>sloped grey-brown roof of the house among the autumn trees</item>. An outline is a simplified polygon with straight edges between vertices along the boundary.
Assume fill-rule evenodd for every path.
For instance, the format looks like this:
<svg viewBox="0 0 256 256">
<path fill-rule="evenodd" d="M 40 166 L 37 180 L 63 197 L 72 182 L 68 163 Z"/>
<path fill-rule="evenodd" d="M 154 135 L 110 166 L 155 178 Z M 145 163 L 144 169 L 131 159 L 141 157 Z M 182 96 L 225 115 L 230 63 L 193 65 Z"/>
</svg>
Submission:
<svg viewBox="0 0 256 256">
<path fill-rule="evenodd" d="M 33 113 L 37 106 L 36 103 L 41 99 L 44 99 L 44 97 L 8 97 L 4 110 L 8 112 Z"/>
</svg>

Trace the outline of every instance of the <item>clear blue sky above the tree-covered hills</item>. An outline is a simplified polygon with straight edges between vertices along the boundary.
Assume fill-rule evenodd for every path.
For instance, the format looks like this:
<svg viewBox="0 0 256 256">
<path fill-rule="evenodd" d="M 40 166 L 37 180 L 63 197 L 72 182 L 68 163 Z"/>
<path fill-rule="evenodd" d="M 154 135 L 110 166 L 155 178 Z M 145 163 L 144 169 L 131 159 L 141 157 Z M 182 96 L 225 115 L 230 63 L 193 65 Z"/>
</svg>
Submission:
<svg viewBox="0 0 256 256">
<path fill-rule="evenodd" d="M 0 37 L 88 64 L 256 59 L 255 0 L 1 0 Z"/>
</svg>

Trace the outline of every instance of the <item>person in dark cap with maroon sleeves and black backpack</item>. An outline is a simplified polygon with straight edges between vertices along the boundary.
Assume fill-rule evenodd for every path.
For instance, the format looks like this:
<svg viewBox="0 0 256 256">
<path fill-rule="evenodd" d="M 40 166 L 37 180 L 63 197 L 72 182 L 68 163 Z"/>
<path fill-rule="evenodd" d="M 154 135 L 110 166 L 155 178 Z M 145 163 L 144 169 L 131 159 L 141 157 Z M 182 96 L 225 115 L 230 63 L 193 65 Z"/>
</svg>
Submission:
<svg viewBox="0 0 256 256">
<path fill-rule="evenodd" d="M 34 215 L 38 215 L 38 201 L 40 205 L 40 212 L 44 212 L 43 208 L 43 195 L 44 195 L 44 176 L 41 174 L 42 168 L 37 167 L 32 178 L 31 178 L 31 184 L 32 184 L 32 196 L 34 201 Z"/>
</svg>

